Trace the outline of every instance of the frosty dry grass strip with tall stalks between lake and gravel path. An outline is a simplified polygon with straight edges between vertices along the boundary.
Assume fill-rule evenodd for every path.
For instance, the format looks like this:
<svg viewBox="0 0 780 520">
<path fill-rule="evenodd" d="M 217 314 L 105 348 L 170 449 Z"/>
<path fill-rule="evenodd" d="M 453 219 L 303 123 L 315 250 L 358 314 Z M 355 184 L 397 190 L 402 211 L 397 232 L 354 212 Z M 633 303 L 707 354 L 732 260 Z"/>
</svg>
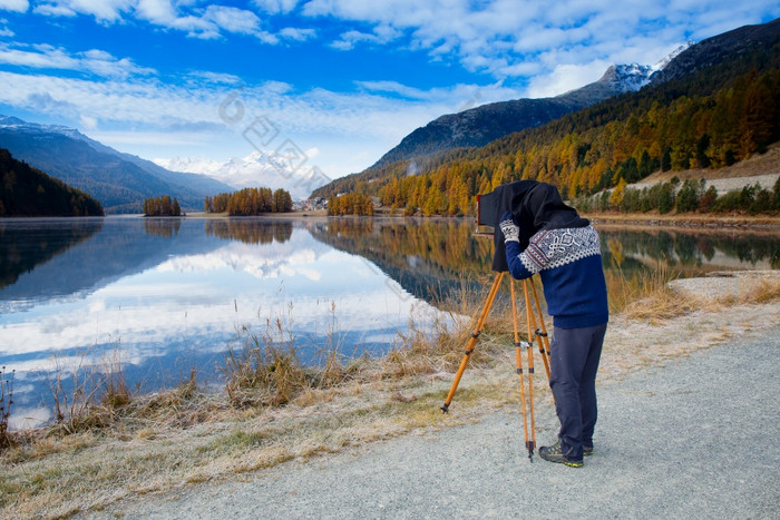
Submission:
<svg viewBox="0 0 780 520">
<path fill-rule="evenodd" d="M 748 300 L 702 307 L 701 302 L 683 303 L 670 294 L 665 276 L 643 283 L 642 290 L 628 288 L 634 287 L 631 284 L 625 288 L 626 298 L 647 291 L 649 300 L 627 304 L 626 312 L 613 318 L 602 381 L 750 330 L 780 325 L 777 284 L 752 291 Z M 269 320 L 261 331 L 244 331 L 245 342 L 232 353 L 232 361 L 228 356 L 225 392 L 199 389 L 193 375 L 174 390 L 130 393 L 123 401 L 117 398 L 124 395 L 121 385 L 114 384 L 117 396 L 98 399 L 95 408 L 85 409 L 103 418 L 97 426 L 74 423 L 68 429 L 16 434 L 14 445 L 0 459 L 0 517 L 68 517 L 124 498 L 447 428 L 500 406 L 515 410 L 519 392 L 504 295 L 497 298 L 458 387 L 452 413 L 439 410 L 474 327 L 471 316 L 485 296 L 464 290 L 447 305 L 448 316 L 438 320 L 421 320 L 413 313 L 409 331 L 381 360 L 344 361 L 333 328 L 330 344 L 323 346 L 323 362 L 312 371 L 291 350 L 286 322 Z M 546 382 L 539 376 L 535 383 L 537 410 L 543 413 L 537 424 L 552 430 Z"/>
</svg>

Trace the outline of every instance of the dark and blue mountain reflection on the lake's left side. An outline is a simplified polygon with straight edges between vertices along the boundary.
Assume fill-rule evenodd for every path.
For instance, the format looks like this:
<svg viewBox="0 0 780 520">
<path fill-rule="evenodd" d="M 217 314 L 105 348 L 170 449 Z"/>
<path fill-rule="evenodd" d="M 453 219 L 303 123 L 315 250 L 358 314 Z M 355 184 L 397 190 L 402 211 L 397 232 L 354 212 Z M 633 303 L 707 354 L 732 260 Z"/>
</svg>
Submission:
<svg viewBox="0 0 780 520">
<path fill-rule="evenodd" d="M 0 222 L 0 281 L 8 285 L 0 301 L 90 293 L 172 256 L 214 251 L 225 239 L 270 244 L 292 235 L 291 222 L 205 223 L 204 233 L 204 220 L 192 218 Z"/>
</svg>

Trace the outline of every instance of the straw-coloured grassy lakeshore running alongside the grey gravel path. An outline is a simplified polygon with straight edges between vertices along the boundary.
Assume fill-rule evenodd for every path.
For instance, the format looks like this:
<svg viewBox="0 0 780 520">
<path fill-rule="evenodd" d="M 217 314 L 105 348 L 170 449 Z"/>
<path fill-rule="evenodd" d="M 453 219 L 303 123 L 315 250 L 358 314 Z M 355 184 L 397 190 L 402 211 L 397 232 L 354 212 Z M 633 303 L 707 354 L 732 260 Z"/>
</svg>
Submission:
<svg viewBox="0 0 780 520">
<path fill-rule="evenodd" d="M 734 294 L 713 298 L 708 294 L 712 279 L 696 279 L 696 287 L 685 286 L 682 293 L 664 284 L 661 300 L 636 302 L 611 318 L 599 367 L 602 384 L 620 384 L 647 366 L 664 366 L 744 333 L 780 326 L 780 283 L 768 296 L 734 283 Z M 653 308 L 657 311 L 643 315 Z M 511 327 L 506 320 L 503 314 L 490 318 L 458 389 L 455 414 L 442 415 L 439 406 L 462 357 L 468 323 L 448 332 L 450 342 L 443 350 L 435 344 L 415 350 L 415 341 L 438 341 L 436 331 L 418 331 L 411 350 L 371 360 L 362 369 L 344 366 L 342 383 L 312 387 L 283 406 L 235 408 L 224 396 L 183 385 L 140 403 L 154 412 L 147 418 L 61 436 L 51 432 L 36 441 L 31 452 L 2 454 L 8 471 L 0 480 L 6 496 L 0 514 L 69 517 L 99 511 L 147 493 L 164 497 L 198 482 L 231 482 L 291 460 L 305 462 L 412 432 L 478 421 L 517 402 L 517 376 L 509 370 L 514 350 L 507 349 Z M 537 405 L 549 408 L 544 380 L 535 379 Z"/>
</svg>

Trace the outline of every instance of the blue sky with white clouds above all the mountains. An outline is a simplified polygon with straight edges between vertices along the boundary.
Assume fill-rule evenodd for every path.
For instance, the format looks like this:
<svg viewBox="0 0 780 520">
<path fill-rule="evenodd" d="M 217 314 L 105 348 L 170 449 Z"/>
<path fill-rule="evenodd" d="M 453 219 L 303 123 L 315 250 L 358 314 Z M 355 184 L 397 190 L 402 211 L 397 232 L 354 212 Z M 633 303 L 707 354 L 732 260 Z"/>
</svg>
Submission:
<svg viewBox="0 0 780 520">
<path fill-rule="evenodd" d="M 777 17 L 768 0 L 0 0 L 0 114 L 148 159 L 287 143 L 334 178 L 442 114 Z M 244 138 L 256 121 L 274 133 Z"/>
</svg>

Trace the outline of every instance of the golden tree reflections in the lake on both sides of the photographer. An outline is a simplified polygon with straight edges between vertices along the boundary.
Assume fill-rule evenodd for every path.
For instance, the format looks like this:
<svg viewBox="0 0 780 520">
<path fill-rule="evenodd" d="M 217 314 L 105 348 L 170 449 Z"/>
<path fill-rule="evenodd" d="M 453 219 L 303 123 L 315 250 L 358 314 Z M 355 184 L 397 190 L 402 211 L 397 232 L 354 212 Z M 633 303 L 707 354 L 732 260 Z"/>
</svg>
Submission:
<svg viewBox="0 0 780 520">
<path fill-rule="evenodd" d="M 466 219 L 353 218 L 308 224 L 315 238 L 368 258 L 406 291 L 427 301 L 458 291 L 464 277 L 475 279 L 472 275 L 489 271 L 493 241 L 474 237 L 474 227 Z M 659 269 L 674 276 L 700 276 L 712 271 L 708 264 L 715 254 L 753 265 L 762 261 L 773 267 L 780 264 L 776 235 L 647 228 L 599 229 L 599 234 L 604 269 L 614 291 L 638 290 L 642 279 Z M 612 300 L 614 296 L 611 294 Z"/>
</svg>

